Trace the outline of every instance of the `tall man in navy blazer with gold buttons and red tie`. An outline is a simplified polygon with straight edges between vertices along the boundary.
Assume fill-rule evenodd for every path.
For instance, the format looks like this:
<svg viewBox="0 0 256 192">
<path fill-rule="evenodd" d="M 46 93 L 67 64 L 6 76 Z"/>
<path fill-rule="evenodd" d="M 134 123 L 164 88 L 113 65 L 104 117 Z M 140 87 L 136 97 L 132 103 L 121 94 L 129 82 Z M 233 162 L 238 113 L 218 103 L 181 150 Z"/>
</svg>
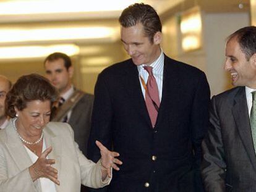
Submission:
<svg viewBox="0 0 256 192">
<path fill-rule="evenodd" d="M 200 191 L 210 101 L 205 74 L 163 53 L 153 7 L 133 4 L 119 22 L 131 59 L 98 76 L 88 157 L 100 157 L 95 140 L 119 152 L 123 165 L 113 172 L 111 192 Z"/>
</svg>

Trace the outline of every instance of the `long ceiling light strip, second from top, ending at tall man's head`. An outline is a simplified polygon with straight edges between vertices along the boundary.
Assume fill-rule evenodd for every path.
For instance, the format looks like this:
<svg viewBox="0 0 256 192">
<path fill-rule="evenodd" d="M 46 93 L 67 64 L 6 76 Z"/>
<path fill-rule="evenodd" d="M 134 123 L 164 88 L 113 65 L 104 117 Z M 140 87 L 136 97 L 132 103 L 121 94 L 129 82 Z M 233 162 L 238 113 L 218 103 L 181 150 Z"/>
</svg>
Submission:
<svg viewBox="0 0 256 192">
<path fill-rule="evenodd" d="M 0 28 L 0 43 L 116 39 L 119 28 L 115 27 L 61 27 L 61 28 Z M 118 35 L 117 35 L 118 34 Z"/>
</svg>

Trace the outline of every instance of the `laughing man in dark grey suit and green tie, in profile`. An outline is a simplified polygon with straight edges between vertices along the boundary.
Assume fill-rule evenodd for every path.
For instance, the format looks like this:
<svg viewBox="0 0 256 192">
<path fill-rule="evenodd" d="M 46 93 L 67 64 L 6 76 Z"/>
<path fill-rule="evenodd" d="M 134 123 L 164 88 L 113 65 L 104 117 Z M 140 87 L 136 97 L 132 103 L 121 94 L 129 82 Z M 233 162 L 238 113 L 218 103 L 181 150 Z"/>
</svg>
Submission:
<svg viewBox="0 0 256 192">
<path fill-rule="evenodd" d="M 256 27 L 228 37 L 224 69 L 236 88 L 213 96 L 203 141 L 206 191 L 256 191 Z"/>
</svg>

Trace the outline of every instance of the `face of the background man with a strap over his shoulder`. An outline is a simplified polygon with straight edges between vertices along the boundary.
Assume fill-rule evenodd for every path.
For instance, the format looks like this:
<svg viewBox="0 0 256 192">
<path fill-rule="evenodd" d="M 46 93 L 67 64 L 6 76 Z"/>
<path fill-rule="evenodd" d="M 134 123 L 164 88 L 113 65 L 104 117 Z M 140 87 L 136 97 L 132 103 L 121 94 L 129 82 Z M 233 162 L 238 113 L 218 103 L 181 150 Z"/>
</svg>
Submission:
<svg viewBox="0 0 256 192">
<path fill-rule="evenodd" d="M 58 88 L 59 93 L 65 93 L 71 86 L 72 66 L 66 69 L 63 59 L 45 62 L 46 78 Z"/>
</svg>

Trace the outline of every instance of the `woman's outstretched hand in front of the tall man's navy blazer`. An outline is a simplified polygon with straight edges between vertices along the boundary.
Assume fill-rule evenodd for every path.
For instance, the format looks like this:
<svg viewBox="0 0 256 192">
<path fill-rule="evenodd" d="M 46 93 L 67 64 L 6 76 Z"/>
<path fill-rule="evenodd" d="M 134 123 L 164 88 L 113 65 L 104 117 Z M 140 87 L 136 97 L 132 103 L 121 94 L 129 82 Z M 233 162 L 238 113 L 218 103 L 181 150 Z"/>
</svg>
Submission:
<svg viewBox="0 0 256 192">
<path fill-rule="evenodd" d="M 119 153 L 109 151 L 100 141 L 96 141 L 96 145 L 100 149 L 101 166 L 107 169 L 108 177 L 111 177 L 111 167 L 113 167 L 114 170 L 119 170 L 117 165 L 122 165 L 122 161 L 116 158 L 119 156 Z"/>
</svg>

